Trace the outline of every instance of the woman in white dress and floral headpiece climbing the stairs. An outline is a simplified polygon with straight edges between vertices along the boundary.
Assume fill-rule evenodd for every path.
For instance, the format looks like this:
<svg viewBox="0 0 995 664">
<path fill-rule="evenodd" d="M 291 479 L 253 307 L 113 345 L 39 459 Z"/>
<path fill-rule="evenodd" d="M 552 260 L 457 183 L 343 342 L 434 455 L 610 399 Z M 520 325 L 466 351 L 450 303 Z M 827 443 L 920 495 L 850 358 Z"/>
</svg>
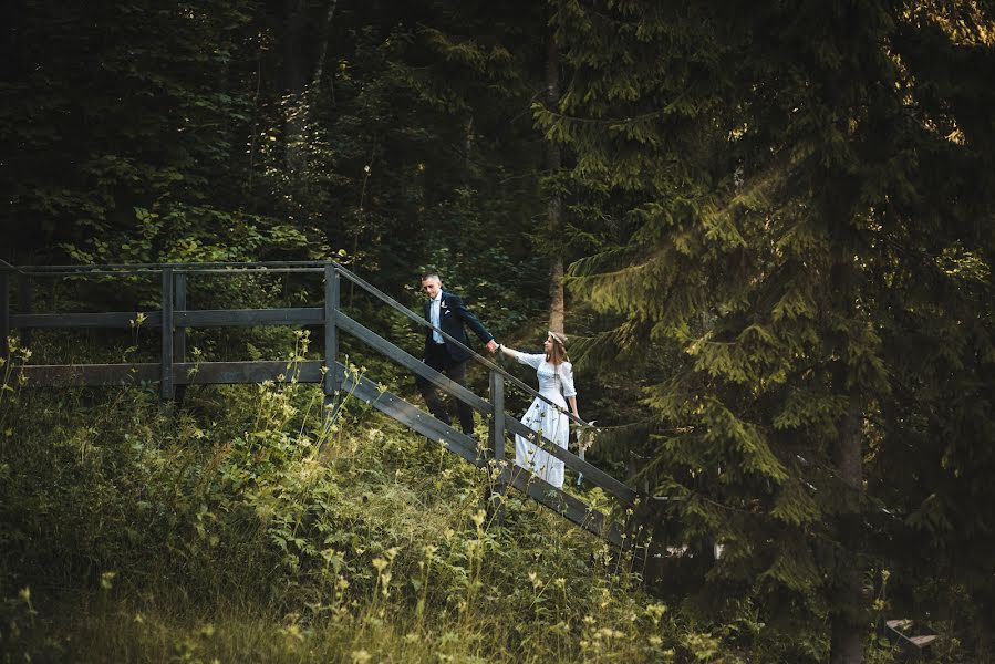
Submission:
<svg viewBox="0 0 995 664">
<path fill-rule="evenodd" d="M 549 438 L 560 447 L 567 447 L 570 438 L 570 419 L 567 417 L 568 402 L 573 416 L 580 417 L 577 411 L 577 390 L 573 386 L 573 365 L 567 357 L 564 342 L 566 339 L 562 335 L 550 332 L 543 344 L 545 354 L 521 353 L 506 347 L 504 344 L 498 346 L 498 350 L 506 355 L 536 369 L 536 375 L 539 378 L 539 394 L 556 406 L 536 397 L 522 416 L 521 423 L 533 432 L 540 432 L 545 438 Z M 536 447 L 521 436 L 515 436 L 515 463 L 552 486 L 562 488 L 563 461 Z"/>
</svg>

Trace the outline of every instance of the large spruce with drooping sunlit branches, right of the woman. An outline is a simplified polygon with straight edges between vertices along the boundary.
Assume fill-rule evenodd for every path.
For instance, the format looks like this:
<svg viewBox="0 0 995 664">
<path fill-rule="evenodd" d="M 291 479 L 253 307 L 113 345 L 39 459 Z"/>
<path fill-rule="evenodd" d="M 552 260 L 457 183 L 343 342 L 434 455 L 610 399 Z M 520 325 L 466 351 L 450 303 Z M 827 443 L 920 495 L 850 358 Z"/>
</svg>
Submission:
<svg viewBox="0 0 995 664">
<path fill-rule="evenodd" d="M 910 424 L 925 438 L 970 423 L 929 443 L 946 456 L 900 460 L 943 476 L 923 497 L 951 501 L 930 512 L 931 546 L 954 541 L 954 505 L 992 532 L 961 494 L 965 469 L 944 467 L 992 467 L 992 18 L 942 3 L 554 4 L 571 84 L 559 113 L 537 114 L 574 152 L 577 181 L 616 193 L 639 224 L 574 263 L 573 282 L 641 332 L 631 342 L 683 354 L 643 394 L 671 478 L 657 488 L 684 499 L 686 537 L 724 544 L 716 596 L 763 598 L 802 634 L 795 656 L 859 662 L 867 571 L 914 560 L 883 558 L 868 528 L 889 501 L 910 507 L 888 466 Z M 923 362 L 940 352 L 954 376 Z M 951 381 L 976 387 L 954 402 Z"/>
</svg>

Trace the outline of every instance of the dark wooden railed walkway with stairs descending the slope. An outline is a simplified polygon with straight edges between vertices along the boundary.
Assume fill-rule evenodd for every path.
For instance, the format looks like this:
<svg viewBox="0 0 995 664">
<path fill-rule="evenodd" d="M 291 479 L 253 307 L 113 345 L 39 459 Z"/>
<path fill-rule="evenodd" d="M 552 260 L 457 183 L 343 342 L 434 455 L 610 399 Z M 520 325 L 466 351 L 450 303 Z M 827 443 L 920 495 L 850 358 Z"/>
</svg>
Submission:
<svg viewBox="0 0 995 664">
<path fill-rule="evenodd" d="M 206 276 L 231 277 L 238 274 L 322 274 L 324 298 L 321 307 L 280 309 L 190 309 L 187 305 L 189 280 Z M 158 310 L 115 311 L 93 313 L 32 313 L 31 292 L 38 280 L 73 278 L 93 279 L 107 276 L 158 277 Z M 445 449 L 479 468 L 499 471 L 495 496 L 502 496 L 508 487 L 521 491 L 532 500 L 556 511 L 577 526 L 603 538 L 621 549 L 639 550 L 640 533 L 653 531 L 654 499 L 641 495 L 600 468 L 589 464 L 582 456 L 561 448 L 522 425 L 505 411 L 505 387 L 515 385 L 532 397 L 540 396 L 535 390 L 518 381 L 497 364 L 477 353 L 475 362 L 481 364 L 489 375 L 487 398 L 450 381 L 434 371 L 417 357 L 408 354 L 391 341 L 374 333 L 361 322 L 350 318 L 342 309 L 343 281 L 351 289 L 359 288 L 419 325 L 433 328 L 421 315 L 412 312 L 393 298 L 381 292 L 356 274 L 335 262 L 292 261 L 257 263 L 162 263 L 162 264 L 107 264 L 107 266 L 55 266 L 14 267 L 0 262 L 0 353 L 7 355 L 7 339 L 14 330 L 22 336 L 33 329 L 123 329 L 135 324 L 141 318 L 143 328 L 160 330 L 162 353 L 157 363 L 133 364 L 75 364 L 75 365 L 27 365 L 21 369 L 29 386 L 85 386 L 85 385 L 136 385 L 143 382 L 158 383 L 163 402 L 176 398 L 177 388 L 185 385 L 259 383 L 286 380 L 286 361 L 256 362 L 196 362 L 187 357 L 186 331 L 190 328 L 293 325 L 321 326 L 324 330 L 324 357 L 320 361 L 304 361 L 294 376 L 298 382 L 320 383 L 324 393 L 324 413 L 333 413 L 336 400 L 351 393 L 371 404 L 384 414 L 407 425 L 426 438 L 438 443 Z M 11 294 L 19 288 L 19 311 L 11 310 Z M 139 315 L 141 314 L 141 315 Z M 463 346 L 442 330 L 434 328 L 449 342 Z M 340 334 L 349 334 L 370 349 L 381 353 L 413 374 L 419 375 L 443 392 L 465 404 L 469 404 L 489 422 L 487 444 L 484 449 L 477 442 L 462 432 L 436 419 L 431 414 L 407 403 L 400 396 L 383 391 L 376 382 L 350 372 L 339 361 Z M 469 349 L 467 349 L 469 350 Z M 473 351 L 470 351 L 473 352 Z M 547 400 L 548 401 L 548 400 Z M 567 413 L 574 425 L 584 423 Z M 506 453 L 509 436 L 526 436 L 538 447 L 562 460 L 582 478 L 583 483 L 601 487 L 614 499 L 610 515 L 590 507 L 578 497 L 556 488 L 525 468 L 514 464 L 514 452 Z M 514 450 L 514 448 L 512 448 Z M 500 499 L 495 498 L 500 506 Z M 656 546 L 653 547 L 656 549 Z M 643 547 L 643 554 L 647 549 Z M 642 558 L 642 556 L 640 556 Z"/>
</svg>

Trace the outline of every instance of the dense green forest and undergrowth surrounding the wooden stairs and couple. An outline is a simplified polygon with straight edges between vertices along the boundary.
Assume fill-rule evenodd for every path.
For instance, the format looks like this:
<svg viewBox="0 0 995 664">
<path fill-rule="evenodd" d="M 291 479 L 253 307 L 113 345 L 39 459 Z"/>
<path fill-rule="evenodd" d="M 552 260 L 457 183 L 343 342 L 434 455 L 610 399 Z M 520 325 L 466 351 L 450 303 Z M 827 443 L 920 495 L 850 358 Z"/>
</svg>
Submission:
<svg viewBox="0 0 995 664">
<path fill-rule="evenodd" d="M 588 458 L 667 497 L 698 553 L 650 579 L 526 502 L 491 522 L 473 470 L 359 404 L 323 428 L 309 386 L 191 388 L 178 412 L 148 386 L 32 390 L 19 364 L 155 343 L 20 335 L 4 662 L 892 662 L 894 619 L 937 635 L 916 654 L 995 662 L 988 0 L 3 13 L 6 263 L 335 260 L 415 309 L 436 270 L 499 340 L 567 333 Z M 70 279 L 31 305 L 151 293 Z M 415 352 L 417 330 L 343 297 Z M 300 330 L 190 343 L 315 352 Z"/>
</svg>

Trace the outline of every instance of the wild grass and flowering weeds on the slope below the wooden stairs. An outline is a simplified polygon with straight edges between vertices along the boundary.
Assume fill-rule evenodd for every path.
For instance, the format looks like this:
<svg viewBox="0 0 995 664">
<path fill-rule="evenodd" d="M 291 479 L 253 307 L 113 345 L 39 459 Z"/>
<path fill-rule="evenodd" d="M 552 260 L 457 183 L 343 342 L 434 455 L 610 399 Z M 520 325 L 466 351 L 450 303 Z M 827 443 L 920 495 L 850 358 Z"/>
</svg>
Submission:
<svg viewBox="0 0 995 664">
<path fill-rule="evenodd" d="M 750 662 L 632 561 L 349 395 L 289 378 L 0 391 L 3 662 Z M 753 653 L 753 654 L 752 654 Z"/>
</svg>

